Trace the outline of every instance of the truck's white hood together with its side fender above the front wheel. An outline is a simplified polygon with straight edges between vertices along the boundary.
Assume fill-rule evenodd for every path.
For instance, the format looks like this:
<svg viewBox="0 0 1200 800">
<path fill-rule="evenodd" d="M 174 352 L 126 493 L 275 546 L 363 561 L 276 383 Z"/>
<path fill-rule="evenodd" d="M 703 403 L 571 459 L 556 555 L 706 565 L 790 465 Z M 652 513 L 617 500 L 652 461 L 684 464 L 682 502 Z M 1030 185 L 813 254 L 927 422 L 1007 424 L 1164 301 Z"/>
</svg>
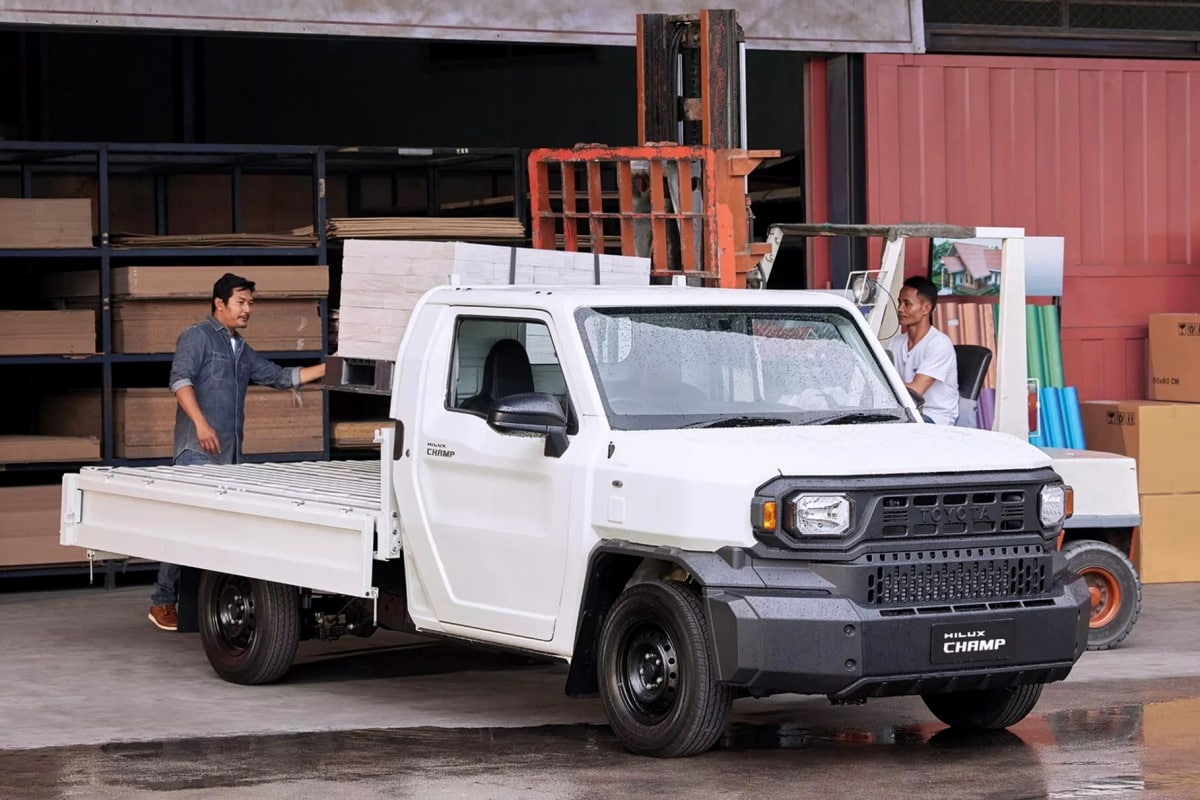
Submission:
<svg viewBox="0 0 1200 800">
<path fill-rule="evenodd" d="M 610 443 L 593 485 L 598 537 L 702 552 L 752 546 L 751 500 L 780 475 L 995 473 L 1051 464 L 1016 437 L 918 423 L 614 431 Z"/>
</svg>

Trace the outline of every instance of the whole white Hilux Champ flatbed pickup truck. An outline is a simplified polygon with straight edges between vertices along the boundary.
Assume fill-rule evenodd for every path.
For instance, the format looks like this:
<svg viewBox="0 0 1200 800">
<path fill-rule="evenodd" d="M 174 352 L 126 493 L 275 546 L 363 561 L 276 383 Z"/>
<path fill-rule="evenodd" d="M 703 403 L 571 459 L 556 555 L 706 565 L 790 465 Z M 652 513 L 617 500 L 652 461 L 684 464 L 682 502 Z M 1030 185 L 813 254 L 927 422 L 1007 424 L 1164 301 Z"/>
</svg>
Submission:
<svg viewBox="0 0 1200 800">
<path fill-rule="evenodd" d="M 1049 457 L 922 422 L 842 297 L 448 285 L 390 403 L 378 462 L 68 474 L 61 541 L 202 570 L 227 680 L 304 638 L 455 637 L 569 662 L 652 756 L 778 692 L 1007 727 L 1087 644 Z"/>
</svg>

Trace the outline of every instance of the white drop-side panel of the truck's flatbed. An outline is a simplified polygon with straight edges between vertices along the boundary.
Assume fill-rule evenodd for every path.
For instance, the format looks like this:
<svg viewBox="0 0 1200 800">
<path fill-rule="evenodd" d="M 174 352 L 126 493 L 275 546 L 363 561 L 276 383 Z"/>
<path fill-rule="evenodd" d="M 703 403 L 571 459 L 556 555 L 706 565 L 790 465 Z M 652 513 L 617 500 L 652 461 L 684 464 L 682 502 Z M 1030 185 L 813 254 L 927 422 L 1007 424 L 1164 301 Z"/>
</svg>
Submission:
<svg viewBox="0 0 1200 800">
<path fill-rule="evenodd" d="M 373 597 L 377 509 L 85 468 L 62 479 L 60 542 Z"/>
</svg>

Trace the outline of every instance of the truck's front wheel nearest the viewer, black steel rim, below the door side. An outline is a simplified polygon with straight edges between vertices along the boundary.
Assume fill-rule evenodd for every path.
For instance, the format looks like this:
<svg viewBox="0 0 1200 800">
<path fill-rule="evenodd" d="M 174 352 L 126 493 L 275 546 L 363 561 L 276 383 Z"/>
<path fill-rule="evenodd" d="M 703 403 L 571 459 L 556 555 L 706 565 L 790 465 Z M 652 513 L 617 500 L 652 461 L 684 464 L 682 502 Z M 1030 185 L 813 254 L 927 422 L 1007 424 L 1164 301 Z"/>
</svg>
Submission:
<svg viewBox="0 0 1200 800">
<path fill-rule="evenodd" d="M 608 723 L 634 753 L 694 756 L 725 732 L 733 690 L 715 680 L 704 609 L 680 583 L 622 593 L 600 630 L 598 669 Z"/>
</svg>

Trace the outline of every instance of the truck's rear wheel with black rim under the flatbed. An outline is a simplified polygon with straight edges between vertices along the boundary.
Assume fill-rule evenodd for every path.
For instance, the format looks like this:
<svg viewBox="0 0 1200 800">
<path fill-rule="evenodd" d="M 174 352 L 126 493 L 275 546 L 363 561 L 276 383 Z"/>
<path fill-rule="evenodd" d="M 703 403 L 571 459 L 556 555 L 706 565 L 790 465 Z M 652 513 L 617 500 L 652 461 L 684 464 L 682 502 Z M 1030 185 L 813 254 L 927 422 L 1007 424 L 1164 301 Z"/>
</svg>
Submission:
<svg viewBox="0 0 1200 800">
<path fill-rule="evenodd" d="M 200 642 L 221 678 L 271 684 L 292 667 L 300 644 L 300 594 L 294 587 L 205 572 L 197 606 Z"/>
</svg>

